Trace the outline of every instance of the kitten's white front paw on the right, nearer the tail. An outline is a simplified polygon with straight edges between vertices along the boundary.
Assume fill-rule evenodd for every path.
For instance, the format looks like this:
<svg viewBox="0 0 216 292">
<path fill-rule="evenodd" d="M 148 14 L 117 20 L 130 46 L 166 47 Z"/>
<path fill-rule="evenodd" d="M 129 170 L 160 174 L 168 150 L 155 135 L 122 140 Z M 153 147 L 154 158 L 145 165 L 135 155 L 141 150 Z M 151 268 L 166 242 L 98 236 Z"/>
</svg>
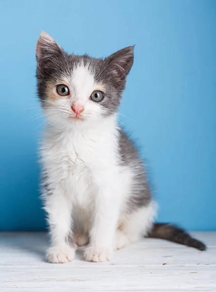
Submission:
<svg viewBox="0 0 216 292">
<path fill-rule="evenodd" d="M 107 247 L 88 247 L 84 253 L 85 260 L 92 262 L 106 262 L 111 259 L 111 250 Z"/>
</svg>

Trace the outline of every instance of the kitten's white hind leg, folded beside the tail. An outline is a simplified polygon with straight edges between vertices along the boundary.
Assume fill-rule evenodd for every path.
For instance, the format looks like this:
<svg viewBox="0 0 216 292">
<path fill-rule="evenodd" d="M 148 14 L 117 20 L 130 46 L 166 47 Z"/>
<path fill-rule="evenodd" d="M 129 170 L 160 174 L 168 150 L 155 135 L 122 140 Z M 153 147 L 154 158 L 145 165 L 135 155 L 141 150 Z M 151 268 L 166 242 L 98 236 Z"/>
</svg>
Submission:
<svg viewBox="0 0 216 292">
<path fill-rule="evenodd" d="M 156 213 L 155 203 L 120 217 L 115 235 L 114 250 L 119 250 L 131 242 L 138 241 L 151 229 Z"/>
</svg>

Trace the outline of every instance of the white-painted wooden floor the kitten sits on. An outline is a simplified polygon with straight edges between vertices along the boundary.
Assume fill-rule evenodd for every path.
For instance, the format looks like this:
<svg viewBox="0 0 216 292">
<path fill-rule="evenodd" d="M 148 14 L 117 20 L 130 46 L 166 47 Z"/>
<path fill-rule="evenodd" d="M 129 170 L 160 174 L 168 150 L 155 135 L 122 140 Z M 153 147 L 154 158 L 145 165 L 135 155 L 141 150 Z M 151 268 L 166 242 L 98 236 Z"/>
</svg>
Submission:
<svg viewBox="0 0 216 292">
<path fill-rule="evenodd" d="M 207 252 L 159 239 L 117 251 L 109 263 L 44 261 L 44 233 L 0 234 L 0 291 L 208 291 L 216 292 L 216 232 L 194 233 Z"/>
</svg>

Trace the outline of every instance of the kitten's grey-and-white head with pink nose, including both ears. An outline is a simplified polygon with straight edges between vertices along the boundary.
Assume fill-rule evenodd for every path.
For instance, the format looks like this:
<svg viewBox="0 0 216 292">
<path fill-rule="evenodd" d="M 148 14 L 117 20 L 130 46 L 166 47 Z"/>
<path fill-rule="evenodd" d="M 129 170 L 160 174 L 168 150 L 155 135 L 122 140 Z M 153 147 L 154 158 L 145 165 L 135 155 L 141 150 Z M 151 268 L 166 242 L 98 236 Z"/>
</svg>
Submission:
<svg viewBox="0 0 216 292">
<path fill-rule="evenodd" d="M 42 32 L 36 46 L 37 92 L 50 122 L 81 123 L 113 115 L 133 64 L 134 47 L 105 59 L 68 55 Z"/>
</svg>

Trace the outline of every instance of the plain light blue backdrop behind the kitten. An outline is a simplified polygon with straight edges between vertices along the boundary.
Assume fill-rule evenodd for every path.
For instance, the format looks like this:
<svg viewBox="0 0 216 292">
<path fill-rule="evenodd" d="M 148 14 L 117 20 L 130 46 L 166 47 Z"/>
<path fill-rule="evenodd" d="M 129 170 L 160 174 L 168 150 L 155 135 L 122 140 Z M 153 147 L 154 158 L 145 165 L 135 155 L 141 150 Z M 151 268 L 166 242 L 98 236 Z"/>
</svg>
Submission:
<svg viewBox="0 0 216 292">
<path fill-rule="evenodd" d="M 35 47 L 134 45 L 121 122 L 143 148 L 159 220 L 216 230 L 216 1 L 0 1 L 0 230 L 41 230 Z M 34 108 L 26 110 L 27 108 Z M 36 129 L 36 130 L 35 130 Z"/>
</svg>

